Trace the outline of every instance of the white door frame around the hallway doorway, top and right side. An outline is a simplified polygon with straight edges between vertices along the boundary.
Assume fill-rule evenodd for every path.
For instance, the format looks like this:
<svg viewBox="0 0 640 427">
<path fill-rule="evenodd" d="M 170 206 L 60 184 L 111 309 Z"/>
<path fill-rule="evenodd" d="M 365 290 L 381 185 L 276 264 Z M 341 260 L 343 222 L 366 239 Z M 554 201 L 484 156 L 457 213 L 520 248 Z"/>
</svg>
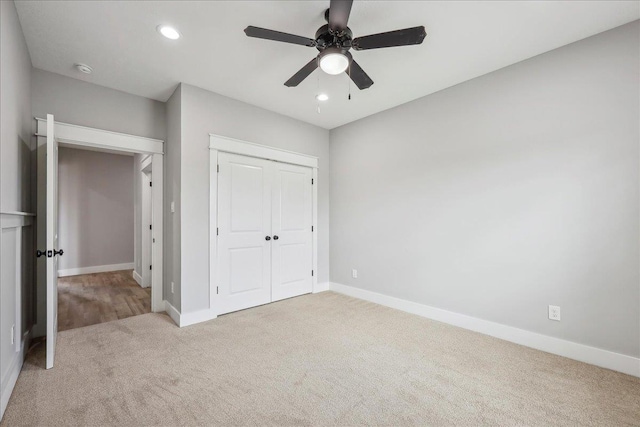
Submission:
<svg viewBox="0 0 640 427">
<path fill-rule="evenodd" d="M 36 117 L 37 137 L 47 136 L 47 120 Z M 151 279 L 151 311 L 165 311 L 163 299 L 163 169 L 164 169 L 164 141 L 124 133 L 111 132 L 102 129 L 69 123 L 55 122 L 54 135 L 60 147 L 82 148 L 86 150 L 106 153 L 148 154 L 153 164 L 153 187 L 151 208 L 153 218 L 153 235 L 155 244 L 152 245 L 152 264 L 160 268 L 152 270 Z"/>
</svg>

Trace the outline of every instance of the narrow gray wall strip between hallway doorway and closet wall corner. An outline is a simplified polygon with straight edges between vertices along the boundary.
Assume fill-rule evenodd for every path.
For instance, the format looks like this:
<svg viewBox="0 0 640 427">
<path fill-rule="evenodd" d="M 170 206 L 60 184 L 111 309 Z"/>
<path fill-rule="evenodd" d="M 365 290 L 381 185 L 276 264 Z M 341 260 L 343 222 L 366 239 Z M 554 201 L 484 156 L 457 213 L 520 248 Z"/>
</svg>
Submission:
<svg viewBox="0 0 640 427">
<path fill-rule="evenodd" d="M 164 162 L 164 299 L 180 310 L 180 151 L 182 150 L 182 87 L 167 101 Z M 171 213 L 171 202 L 175 210 Z M 171 292 L 174 282 L 174 292 Z"/>
</svg>

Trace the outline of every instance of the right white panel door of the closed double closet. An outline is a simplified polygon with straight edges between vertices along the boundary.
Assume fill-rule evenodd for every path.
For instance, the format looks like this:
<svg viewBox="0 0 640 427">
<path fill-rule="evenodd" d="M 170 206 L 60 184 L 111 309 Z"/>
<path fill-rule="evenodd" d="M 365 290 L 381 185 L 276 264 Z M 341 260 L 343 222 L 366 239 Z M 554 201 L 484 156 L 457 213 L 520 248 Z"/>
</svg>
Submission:
<svg viewBox="0 0 640 427">
<path fill-rule="evenodd" d="M 313 288 L 311 168 L 274 163 L 272 300 Z M 277 236 L 277 239 L 276 237 Z"/>
</svg>

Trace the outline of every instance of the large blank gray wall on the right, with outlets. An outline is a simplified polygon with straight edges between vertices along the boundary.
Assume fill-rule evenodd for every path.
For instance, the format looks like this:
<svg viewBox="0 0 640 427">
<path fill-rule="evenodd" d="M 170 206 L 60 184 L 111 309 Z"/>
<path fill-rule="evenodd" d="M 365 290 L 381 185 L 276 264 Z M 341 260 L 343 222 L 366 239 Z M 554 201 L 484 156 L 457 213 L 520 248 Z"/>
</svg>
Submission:
<svg viewBox="0 0 640 427">
<path fill-rule="evenodd" d="M 333 130 L 332 282 L 639 356 L 639 36 Z"/>
</svg>

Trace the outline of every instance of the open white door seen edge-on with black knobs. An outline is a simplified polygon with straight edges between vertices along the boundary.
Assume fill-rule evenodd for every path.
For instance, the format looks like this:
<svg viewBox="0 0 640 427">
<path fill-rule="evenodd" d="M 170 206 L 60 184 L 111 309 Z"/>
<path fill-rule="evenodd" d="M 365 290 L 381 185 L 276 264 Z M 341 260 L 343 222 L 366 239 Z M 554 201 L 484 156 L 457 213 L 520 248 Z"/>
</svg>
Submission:
<svg viewBox="0 0 640 427">
<path fill-rule="evenodd" d="M 53 115 L 47 114 L 47 360 L 53 368 L 58 335 L 58 143 Z"/>
</svg>

